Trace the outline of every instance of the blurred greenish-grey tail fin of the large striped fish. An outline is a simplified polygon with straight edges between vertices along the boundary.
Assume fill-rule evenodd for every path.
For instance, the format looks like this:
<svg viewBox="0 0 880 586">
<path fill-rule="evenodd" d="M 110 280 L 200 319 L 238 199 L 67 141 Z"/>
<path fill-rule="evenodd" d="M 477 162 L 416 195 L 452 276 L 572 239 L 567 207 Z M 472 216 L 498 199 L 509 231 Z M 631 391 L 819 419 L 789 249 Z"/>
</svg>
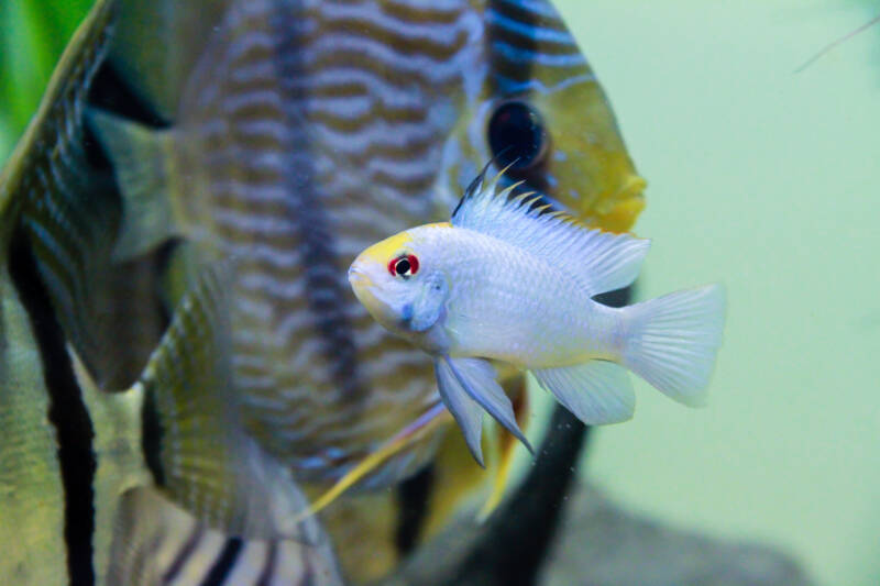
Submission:
<svg viewBox="0 0 880 586">
<path fill-rule="evenodd" d="M 98 140 L 113 163 L 122 194 L 122 228 L 114 261 L 141 256 L 163 242 L 183 235 L 172 192 L 174 142 L 172 132 L 91 109 L 87 112 Z"/>
</svg>

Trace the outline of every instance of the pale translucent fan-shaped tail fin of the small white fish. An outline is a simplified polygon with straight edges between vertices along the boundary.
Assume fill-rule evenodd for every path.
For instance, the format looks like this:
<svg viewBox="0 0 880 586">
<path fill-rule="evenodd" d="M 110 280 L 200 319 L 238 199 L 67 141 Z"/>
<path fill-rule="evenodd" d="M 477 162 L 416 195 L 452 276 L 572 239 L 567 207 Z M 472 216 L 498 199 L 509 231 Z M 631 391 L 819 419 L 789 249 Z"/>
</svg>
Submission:
<svg viewBox="0 0 880 586">
<path fill-rule="evenodd" d="M 725 291 L 708 285 L 673 292 L 623 310 L 624 366 L 668 397 L 697 407 L 722 343 Z"/>
</svg>

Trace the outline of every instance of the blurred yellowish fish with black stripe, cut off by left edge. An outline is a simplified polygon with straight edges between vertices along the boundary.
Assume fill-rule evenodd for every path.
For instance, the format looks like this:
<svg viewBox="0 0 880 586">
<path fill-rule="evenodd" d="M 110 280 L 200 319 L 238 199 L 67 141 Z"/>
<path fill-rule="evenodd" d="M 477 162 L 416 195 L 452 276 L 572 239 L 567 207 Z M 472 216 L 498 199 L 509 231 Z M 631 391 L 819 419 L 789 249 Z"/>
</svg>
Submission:
<svg viewBox="0 0 880 586">
<path fill-rule="evenodd" d="M 101 246 L 113 235 L 100 222 L 112 218 L 99 197 L 111 191 L 84 148 L 82 110 L 114 19 L 113 2 L 96 4 L 0 174 L 0 577 L 134 584 L 143 574 L 161 582 L 158 563 L 121 565 L 119 552 L 136 550 L 156 526 L 167 530 L 163 515 L 176 502 L 204 531 L 284 548 L 274 555 L 293 560 L 283 575 L 263 560 L 243 565 L 297 583 L 314 581 L 319 568 L 321 584 L 337 584 L 317 521 L 298 521 L 307 501 L 289 469 L 239 422 L 223 270 L 202 270 L 194 281 L 132 388 L 100 389 L 90 373 L 97 368 L 80 357 L 99 352 L 91 334 L 105 316 L 91 312 L 90 296 L 107 285 Z M 142 490 L 156 491 L 150 507 L 132 504 Z M 153 524 L 125 517 L 131 507 Z M 193 579 L 185 583 L 201 582 Z"/>
</svg>

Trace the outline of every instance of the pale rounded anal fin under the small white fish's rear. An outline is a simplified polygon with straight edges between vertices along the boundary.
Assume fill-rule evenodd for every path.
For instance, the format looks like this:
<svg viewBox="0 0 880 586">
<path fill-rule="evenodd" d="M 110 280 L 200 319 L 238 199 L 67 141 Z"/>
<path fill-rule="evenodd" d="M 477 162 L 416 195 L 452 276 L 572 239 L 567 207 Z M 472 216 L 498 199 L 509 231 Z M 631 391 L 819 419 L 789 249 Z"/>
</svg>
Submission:
<svg viewBox="0 0 880 586">
<path fill-rule="evenodd" d="M 613 362 L 590 361 L 532 374 L 541 387 L 587 425 L 619 423 L 630 419 L 636 410 L 629 375 Z"/>
</svg>

